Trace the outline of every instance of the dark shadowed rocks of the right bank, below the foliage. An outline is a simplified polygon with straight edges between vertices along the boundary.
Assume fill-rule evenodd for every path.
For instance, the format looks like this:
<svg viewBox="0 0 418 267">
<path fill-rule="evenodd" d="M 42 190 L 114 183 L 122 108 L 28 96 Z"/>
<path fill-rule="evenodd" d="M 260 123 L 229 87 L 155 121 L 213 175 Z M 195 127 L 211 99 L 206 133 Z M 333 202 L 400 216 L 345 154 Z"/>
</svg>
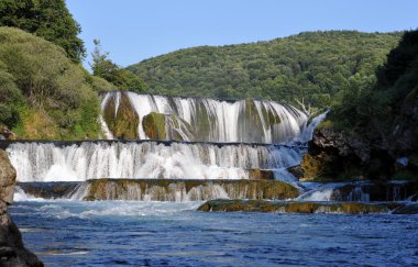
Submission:
<svg viewBox="0 0 418 267">
<path fill-rule="evenodd" d="M 381 144 L 324 122 L 315 130 L 300 166 L 289 170 L 302 181 L 417 180 L 418 156 L 394 146 L 397 144 Z"/>
</svg>

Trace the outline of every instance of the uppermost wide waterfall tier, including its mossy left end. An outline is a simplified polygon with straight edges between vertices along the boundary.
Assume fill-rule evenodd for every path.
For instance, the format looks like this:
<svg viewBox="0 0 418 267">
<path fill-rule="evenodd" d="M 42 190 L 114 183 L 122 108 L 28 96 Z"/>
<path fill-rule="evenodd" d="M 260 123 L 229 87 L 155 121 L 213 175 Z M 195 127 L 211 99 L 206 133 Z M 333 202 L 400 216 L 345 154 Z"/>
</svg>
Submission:
<svg viewBox="0 0 418 267">
<path fill-rule="evenodd" d="M 170 118 L 156 125 L 165 130 L 160 140 L 277 144 L 298 136 L 308 120 L 296 108 L 273 101 L 230 102 L 119 91 L 106 92 L 101 109 L 105 121 L 111 124 L 103 126 L 108 138 L 156 138 L 144 131 L 144 118 L 155 113 Z M 119 123 L 123 123 L 123 131 L 117 130 Z M 127 123 L 132 124 L 130 129 Z"/>
</svg>

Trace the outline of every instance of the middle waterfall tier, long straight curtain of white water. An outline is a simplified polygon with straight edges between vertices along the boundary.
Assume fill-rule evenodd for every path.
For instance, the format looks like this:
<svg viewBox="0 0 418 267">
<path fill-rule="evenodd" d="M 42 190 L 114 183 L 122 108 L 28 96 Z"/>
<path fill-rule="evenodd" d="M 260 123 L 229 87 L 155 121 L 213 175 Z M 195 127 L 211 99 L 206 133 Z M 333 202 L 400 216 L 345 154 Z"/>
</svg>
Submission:
<svg viewBox="0 0 418 267">
<path fill-rule="evenodd" d="M 300 147 L 155 141 L 14 142 L 7 152 L 18 181 L 91 178 L 250 179 L 254 169 L 283 169 Z"/>
</svg>

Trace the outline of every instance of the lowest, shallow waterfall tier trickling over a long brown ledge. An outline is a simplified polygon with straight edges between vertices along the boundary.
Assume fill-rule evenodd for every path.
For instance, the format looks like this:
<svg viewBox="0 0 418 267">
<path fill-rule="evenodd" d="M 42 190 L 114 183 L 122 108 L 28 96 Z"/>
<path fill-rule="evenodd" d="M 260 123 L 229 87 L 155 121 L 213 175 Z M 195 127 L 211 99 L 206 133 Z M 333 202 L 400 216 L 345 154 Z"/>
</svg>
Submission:
<svg viewBox="0 0 418 267">
<path fill-rule="evenodd" d="M 288 199 L 298 194 L 277 180 L 92 179 L 79 182 L 19 182 L 20 201 L 42 199 L 204 201 L 211 199 Z M 33 197 L 31 197 L 33 198 Z"/>
</svg>

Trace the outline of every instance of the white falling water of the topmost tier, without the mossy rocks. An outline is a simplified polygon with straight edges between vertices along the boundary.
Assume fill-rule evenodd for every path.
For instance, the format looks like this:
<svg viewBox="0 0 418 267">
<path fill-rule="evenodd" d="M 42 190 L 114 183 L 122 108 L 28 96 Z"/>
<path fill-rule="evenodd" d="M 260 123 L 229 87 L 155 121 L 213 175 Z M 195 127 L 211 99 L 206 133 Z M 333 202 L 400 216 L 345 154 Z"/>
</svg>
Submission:
<svg viewBox="0 0 418 267">
<path fill-rule="evenodd" d="M 113 101 L 114 118 L 119 111 L 121 97 L 127 97 L 136 111 L 140 125 L 138 135 L 141 140 L 147 140 L 142 121 L 151 112 L 176 115 L 195 130 L 195 135 L 175 129 L 184 137 L 184 141 L 206 142 L 254 142 L 254 143 L 282 143 L 298 136 L 306 127 L 308 116 L 290 105 L 283 105 L 272 101 L 241 100 L 227 102 L 213 99 L 178 98 L 138 94 L 134 92 L 107 92 L 103 96 L 101 108 L 105 111 Z M 255 110 L 248 110 L 255 109 Z M 248 118 L 246 113 L 254 113 L 255 119 Z M 268 114 L 272 114 L 271 116 Z M 279 119 L 279 123 L 271 121 Z M 255 121 L 254 121 L 255 120 Z M 256 125 L 254 122 L 260 122 Z M 209 129 L 200 129 L 199 125 Z M 261 127 L 261 129 L 260 129 Z M 173 125 L 166 125 L 173 131 Z M 108 132 L 108 127 L 103 127 Z M 256 134 L 254 134 L 256 132 Z M 108 138 L 112 138 L 108 134 Z M 169 137 L 166 136 L 166 140 Z"/>
</svg>

